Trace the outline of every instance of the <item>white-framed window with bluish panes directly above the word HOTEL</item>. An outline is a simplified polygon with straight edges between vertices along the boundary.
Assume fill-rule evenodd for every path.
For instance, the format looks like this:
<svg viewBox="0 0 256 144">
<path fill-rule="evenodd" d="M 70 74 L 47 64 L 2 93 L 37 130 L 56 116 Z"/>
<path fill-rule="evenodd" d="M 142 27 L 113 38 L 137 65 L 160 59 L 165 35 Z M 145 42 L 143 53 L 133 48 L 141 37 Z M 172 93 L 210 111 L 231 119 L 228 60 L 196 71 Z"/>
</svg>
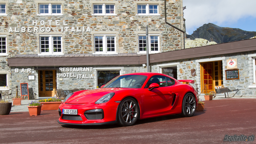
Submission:
<svg viewBox="0 0 256 144">
<path fill-rule="evenodd" d="M 63 15 L 61 4 L 39 4 L 38 15 Z"/>
</svg>

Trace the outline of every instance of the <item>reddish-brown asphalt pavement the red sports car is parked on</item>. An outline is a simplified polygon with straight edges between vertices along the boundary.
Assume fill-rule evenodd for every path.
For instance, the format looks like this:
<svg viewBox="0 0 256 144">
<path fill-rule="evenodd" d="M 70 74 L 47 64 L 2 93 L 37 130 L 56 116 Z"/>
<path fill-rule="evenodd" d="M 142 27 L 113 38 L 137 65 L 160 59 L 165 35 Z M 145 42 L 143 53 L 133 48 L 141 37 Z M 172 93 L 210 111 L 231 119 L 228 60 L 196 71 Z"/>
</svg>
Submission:
<svg viewBox="0 0 256 144">
<path fill-rule="evenodd" d="M 58 111 L 11 112 L 0 116 L 0 143 L 230 143 L 223 142 L 226 134 L 256 135 L 256 99 L 205 102 L 193 117 L 149 118 L 130 127 L 62 125 Z"/>
</svg>

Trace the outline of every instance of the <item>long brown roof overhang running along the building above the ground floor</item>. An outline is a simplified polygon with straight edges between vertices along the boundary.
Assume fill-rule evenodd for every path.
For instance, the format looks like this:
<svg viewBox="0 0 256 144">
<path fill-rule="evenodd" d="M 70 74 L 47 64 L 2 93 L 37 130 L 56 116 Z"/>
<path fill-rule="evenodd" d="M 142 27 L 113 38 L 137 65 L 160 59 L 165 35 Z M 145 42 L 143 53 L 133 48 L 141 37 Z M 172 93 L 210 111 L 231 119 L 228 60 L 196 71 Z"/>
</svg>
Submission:
<svg viewBox="0 0 256 144">
<path fill-rule="evenodd" d="M 169 52 L 150 54 L 150 63 L 201 58 L 206 56 L 224 55 L 256 50 L 256 38 L 229 43 L 195 47 Z M 88 55 L 88 54 L 87 54 Z M 78 66 L 78 65 L 140 65 L 146 64 L 146 55 L 138 56 L 49 56 L 49 57 L 11 57 L 7 58 L 8 66 Z"/>
</svg>

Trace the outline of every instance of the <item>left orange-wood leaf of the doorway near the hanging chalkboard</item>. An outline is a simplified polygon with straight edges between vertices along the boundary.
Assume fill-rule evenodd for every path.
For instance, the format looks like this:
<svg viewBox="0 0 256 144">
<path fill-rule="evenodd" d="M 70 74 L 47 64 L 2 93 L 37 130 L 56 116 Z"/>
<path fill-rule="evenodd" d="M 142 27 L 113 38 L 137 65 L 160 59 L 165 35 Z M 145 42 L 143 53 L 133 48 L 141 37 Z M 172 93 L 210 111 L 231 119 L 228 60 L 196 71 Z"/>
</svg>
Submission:
<svg viewBox="0 0 256 144">
<path fill-rule="evenodd" d="M 201 88 L 203 94 L 213 91 L 212 62 L 201 64 Z"/>
</svg>

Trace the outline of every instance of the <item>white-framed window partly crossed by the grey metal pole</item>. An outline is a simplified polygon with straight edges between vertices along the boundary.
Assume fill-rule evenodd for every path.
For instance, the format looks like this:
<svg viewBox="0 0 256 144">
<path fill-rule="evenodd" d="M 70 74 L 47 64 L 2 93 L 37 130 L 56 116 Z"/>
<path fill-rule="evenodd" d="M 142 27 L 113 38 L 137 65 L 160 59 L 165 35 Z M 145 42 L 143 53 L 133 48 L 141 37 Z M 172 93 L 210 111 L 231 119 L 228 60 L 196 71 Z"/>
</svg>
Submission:
<svg viewBox="0 0 256 144">
<path fill-rule="evenodd" d="M 149 35 L 149 53 L 159 53 L 159 35 Z M 139 34 L 139 53 L 146 53 L 146 35 Z"/>
</svg>

